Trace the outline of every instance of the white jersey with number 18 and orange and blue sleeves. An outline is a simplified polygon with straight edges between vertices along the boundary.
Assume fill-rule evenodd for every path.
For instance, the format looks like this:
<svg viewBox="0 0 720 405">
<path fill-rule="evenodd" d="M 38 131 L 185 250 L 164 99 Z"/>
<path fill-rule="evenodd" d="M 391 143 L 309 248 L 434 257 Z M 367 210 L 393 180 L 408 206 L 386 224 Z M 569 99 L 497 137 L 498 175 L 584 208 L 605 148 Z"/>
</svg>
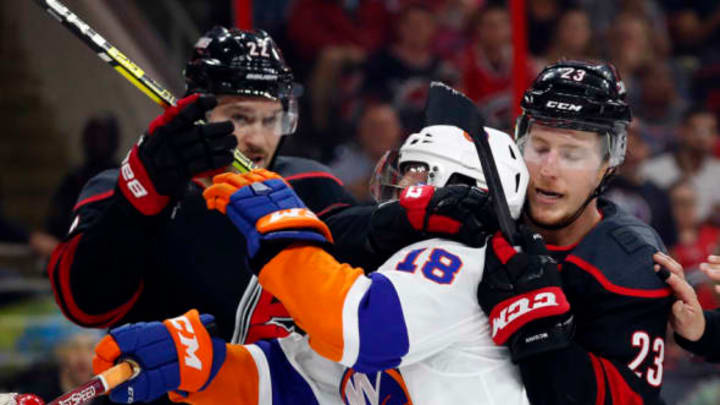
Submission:
<svg viewBox="0 0 720 405">
<path fill-rule="evenodd" d="M 184 401 L 527 404 L 477 302 L 484 262 L 485 248 L 431 239 L 365 276 L 318 247 L 286 249 L 259 280 L 307 336 L 230 345 L 216 379 Z"/>
</svg>

